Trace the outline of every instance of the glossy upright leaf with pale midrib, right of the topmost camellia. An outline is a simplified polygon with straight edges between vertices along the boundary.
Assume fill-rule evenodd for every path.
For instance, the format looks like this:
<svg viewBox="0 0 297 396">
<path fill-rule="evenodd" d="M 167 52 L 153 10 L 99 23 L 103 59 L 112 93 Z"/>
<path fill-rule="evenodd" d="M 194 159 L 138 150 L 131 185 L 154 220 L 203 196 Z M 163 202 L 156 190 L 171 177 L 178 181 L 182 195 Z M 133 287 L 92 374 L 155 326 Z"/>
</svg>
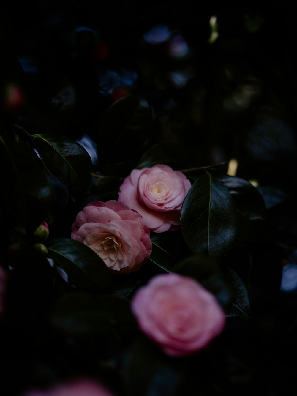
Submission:
<svg viewBox="0 0 297 396">
<path fill-rule="evenodd" d="M 210 173 L 199 177 L 181 208 L 181 229 L 195 255 L 221 261 L 236 238 L 237 215 L 228 188 Z"/>
</svg>

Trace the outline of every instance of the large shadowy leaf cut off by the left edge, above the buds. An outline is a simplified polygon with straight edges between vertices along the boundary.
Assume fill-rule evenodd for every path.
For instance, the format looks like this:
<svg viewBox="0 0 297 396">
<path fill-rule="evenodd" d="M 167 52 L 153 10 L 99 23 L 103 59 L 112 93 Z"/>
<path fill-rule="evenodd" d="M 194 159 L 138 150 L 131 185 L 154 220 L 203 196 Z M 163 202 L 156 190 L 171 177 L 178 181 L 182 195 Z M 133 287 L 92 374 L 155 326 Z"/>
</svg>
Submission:
<svg viewBox="0 0 297 396">
<path fill-rule="evenodd" d="M 29 145 L 0 136 L 0 202 L 12 228 L 34 229 L 48 214 L 51 190 L 41 165 Z"/>
</svg>

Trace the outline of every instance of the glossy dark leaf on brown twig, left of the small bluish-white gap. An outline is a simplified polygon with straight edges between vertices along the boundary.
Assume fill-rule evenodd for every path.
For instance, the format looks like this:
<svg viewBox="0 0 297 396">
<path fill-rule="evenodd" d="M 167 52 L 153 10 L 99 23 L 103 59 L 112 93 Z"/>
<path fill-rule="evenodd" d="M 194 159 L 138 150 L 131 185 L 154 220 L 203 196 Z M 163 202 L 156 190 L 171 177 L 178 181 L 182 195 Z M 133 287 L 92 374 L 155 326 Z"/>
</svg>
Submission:
<svg viewBox="0 0 297 396">
<path fill-rule="evenodd" d="M 51 133 L 32 135 L 44 166 L 74 193 L 84 192 L 91 183 L 92 161 L 79 143 Z"/>
</svg>

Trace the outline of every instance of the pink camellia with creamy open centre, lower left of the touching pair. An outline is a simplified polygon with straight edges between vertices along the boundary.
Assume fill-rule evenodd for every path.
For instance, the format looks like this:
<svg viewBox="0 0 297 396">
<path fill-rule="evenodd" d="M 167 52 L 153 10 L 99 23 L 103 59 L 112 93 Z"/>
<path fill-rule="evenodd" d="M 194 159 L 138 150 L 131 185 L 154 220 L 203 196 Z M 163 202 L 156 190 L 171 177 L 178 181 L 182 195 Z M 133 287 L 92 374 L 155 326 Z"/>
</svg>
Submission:
<svg viewBox="0 0 297 396">
<path fill-rule="evenodd" d="M 118 201 L 89 203 L 78 213 L 71 238 L 89 246 L 114 273 L 137 271 L 152 252 L 141 215 Z"/>
</svg>

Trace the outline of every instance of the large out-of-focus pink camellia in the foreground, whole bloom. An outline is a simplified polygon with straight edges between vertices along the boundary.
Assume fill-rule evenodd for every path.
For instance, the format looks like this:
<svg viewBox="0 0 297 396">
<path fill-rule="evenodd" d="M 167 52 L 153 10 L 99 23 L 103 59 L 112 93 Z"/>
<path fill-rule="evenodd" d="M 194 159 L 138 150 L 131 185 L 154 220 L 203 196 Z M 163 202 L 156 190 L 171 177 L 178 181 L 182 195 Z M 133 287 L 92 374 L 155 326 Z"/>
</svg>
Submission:
<svg viewBox="0 0 297 396">
<path fill-rule="evenodd" d="M 131 308 L 141 330 L 170 356 L 206 348 L 225 326 L 213 294 L 173 273 L 154 276 L 135 293 Z"/>
</svg>

